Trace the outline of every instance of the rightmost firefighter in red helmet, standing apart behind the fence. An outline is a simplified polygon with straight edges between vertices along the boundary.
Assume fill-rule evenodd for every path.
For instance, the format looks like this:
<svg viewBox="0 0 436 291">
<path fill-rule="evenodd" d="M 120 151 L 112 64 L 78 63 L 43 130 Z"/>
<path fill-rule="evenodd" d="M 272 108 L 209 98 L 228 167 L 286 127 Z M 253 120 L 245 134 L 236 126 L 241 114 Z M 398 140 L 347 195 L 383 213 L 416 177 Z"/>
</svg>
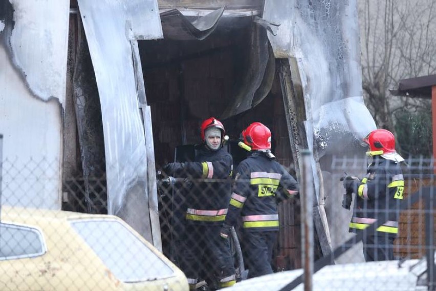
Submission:
<svg viewBox="0 0 436 291">
<path fill-rule="evenodd" d="M 403 199 L 404 178 L 400 162 L 404 159 L 395 150 L 395 137 L 385 129 L 370 132 L 364 139 L 373 157 L 366 176 L 343 180 L 347 192 L 356 193 L 350 232 L 364 230 L 377 220 L 383 224 L 363 238 L 366 261 L 394 259 L 394 239 L 398 234 L 399 204 Z"/>
</svg>

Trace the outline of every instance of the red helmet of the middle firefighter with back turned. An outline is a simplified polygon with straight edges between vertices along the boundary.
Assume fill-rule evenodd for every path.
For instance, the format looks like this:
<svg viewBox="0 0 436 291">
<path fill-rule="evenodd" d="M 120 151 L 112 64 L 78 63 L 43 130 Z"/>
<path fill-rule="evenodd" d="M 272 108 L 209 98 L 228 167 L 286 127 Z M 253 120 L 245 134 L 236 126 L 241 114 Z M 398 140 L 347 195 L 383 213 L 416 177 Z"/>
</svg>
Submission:
<svg viewBox="0 0 436 291">
<path fill-rule="evenodd" d="M 248 128 L 243 130 L 242 136 L 244 143 L 252 150 L 271 149 L 271 131 L 260 122 L 251 123 Z"/>
</svg>

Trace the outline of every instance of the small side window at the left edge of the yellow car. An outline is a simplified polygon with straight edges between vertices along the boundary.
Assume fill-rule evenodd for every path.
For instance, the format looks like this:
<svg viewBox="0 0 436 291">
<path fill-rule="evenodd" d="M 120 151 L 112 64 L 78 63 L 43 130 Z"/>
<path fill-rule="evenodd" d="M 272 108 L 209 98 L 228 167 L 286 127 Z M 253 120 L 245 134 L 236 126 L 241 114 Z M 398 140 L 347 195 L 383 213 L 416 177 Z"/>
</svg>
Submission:
<svg viewBox="0 0 436 291">
<path fill-rule="evenodd" d="M 40 256 L 46 252 L 39 230 L 10 223 L 0 223 L 0 260 Z"/>
</svg>

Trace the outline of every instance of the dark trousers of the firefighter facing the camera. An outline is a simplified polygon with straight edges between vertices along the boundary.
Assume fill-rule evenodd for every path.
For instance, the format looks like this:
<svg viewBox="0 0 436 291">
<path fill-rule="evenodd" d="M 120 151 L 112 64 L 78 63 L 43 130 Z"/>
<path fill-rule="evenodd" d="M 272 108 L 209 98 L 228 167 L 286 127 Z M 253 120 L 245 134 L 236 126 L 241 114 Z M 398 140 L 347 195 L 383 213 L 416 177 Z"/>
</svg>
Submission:
<svg viewBox="0 0 436 291">
<path fill-rule="evenodd" d="M 180 267 L 193 285 L 199 277 L 214 276 L 221 287 L 235 282 L 230 242 L 220 236 L 221 225 L 186 225 Z M 206 274 L 202 274 L 206 273 Z"/>
</svg>

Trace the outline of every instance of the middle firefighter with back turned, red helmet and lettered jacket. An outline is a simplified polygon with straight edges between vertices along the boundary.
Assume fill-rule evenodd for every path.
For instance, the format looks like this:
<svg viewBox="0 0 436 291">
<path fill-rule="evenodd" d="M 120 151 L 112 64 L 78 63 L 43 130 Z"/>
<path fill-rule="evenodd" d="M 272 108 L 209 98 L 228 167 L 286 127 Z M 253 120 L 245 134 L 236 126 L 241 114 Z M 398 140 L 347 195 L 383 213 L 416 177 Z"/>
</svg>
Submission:
<svg viewBox="0 0 436 291">
<path fill-rule="evenodd" d="M 273 273 L 272 251 L 279 221 L 277 202 L 298 193 L 297 181 L 275 161 L 271 131 L 253 122 L 242 132 L 250 155 L 237 167 L 229 210 L 221 230 L 227 239 L 232 225 L 242 216 L 242 243 L 250 278 Z"/>
</svg>

